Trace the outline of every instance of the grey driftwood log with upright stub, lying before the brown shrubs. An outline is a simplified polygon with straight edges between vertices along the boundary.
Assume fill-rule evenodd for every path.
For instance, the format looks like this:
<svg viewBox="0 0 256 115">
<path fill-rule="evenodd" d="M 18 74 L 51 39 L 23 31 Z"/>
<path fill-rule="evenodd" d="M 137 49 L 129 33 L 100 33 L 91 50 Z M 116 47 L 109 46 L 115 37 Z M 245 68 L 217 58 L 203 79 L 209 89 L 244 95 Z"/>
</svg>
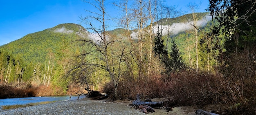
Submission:
<svg viewBox="0 0 256 115">
<path fill-rule="evenodd" d="M 140 101 L 140 95 L 137 94 L 136 95 L 136 100 L 132 102 L 132 104 L 138 106 L 138 105 L 148 105 L 148 106 L 151 106 L 151 107 L 159 107 L 159 106 L 162 106 L 163 102 L 142 102 Z"/>
</svg>

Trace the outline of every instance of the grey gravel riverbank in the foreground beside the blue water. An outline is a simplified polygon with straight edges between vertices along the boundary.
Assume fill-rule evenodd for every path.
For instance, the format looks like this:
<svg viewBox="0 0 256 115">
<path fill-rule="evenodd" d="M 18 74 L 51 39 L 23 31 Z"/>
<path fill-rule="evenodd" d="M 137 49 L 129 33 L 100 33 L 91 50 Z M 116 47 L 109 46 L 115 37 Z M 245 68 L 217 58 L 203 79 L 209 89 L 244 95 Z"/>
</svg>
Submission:
<svg viewBox="0 0 256 115">
<path fill-rule="evenodd" d="M 0 110 L 0 115 L 145 115 L 128 104 L 89 99 L 54 102 Z"/>
</svg>

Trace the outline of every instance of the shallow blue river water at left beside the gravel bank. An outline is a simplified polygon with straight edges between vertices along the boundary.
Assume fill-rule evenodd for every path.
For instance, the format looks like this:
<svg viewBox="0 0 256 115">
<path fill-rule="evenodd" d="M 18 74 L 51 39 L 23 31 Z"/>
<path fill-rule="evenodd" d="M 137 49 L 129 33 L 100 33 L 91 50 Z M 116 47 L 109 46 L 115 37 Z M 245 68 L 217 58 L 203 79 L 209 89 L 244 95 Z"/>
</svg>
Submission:
<svg viewBox="0 0 256 115">
<path fill-rule="evenodd" d="M 72 95 L 71 100 L 77 100 L 76 95 Z M 57 101 L 69 100 L 69 95 L 65 96 L 46 96 L 46 97 L 21 97 L 0 99 L 0 109 L 17 108 L 22 106 L 31 106 L 38 104 L 47 104 Z M 81 97 L 82 98 L 82 97 Z"/>
</svg>

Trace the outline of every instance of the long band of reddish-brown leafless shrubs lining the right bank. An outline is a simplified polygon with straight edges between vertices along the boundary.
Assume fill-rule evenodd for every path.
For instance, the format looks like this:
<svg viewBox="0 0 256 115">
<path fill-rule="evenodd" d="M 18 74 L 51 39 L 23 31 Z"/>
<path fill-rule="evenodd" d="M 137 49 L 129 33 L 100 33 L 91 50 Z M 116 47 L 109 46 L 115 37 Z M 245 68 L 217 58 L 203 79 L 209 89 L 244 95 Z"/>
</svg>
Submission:
<svg viewBox="0 0 256 115">
<path fill-rule="evenodd" d="M 227 113 L 256 114 L 255 55 L 256 48 L 231 54 L 229 61 L 211 73 L 180 71 L 169 76 L 122 77 L 120 99 L 135 99 L 142 94 L 141 98 L 168 97 L 169 106 L 224 104 Z M 106 84 L 103 91 L 114 94 L 113 84 Z"/>
</svg>

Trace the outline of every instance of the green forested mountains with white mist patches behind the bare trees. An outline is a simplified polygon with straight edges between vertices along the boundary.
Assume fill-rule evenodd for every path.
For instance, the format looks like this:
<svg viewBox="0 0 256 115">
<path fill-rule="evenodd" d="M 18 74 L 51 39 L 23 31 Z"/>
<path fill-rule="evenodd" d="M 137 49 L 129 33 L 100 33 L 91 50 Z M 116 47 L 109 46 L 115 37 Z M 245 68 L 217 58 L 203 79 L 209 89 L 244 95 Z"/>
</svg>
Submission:
<svg viewBox="0 0 256 115">
<path fill-rule="evenodd" d="M 197 14 L 199 15 L 198 22 L 204 22 L 200 27 L 203 30 L 205 25 L 208 24 L 208 20 L 204 20 L 207 18 L 208 13 Z M 188 32 L 191 29 L 189 28 L 190 21 L 191 14 L 187 14 L 177 18 L 164 18 L 154 25 L 155 28 L 160 25 L 173 30 L 173 34 L 168 37 L 166 36 L 167 34 L 162 34 L 165 41 L 164 44 L 167 47 L 167 51 L 170 51 L 172 41 L 175 40 L 185 60 L 188 60 L 187 45 L 189 44 L 193 47 L 193 36 Z M 127 38 L 128 30 L 118 28 L 106 32 L 108 35 L 125 39 Z M 135 35 L 136 30 L 130 30 L 130 33 Z M 33 79 L 32 81 L 36 82 L 36 84 L 42 85 L 44 82 L 43 85 L 45 85 L 47 81 L 44 78 L 45 76 L 47 77 L 47 69 L 51 71 L 49 68 L 52 66 L 53 72 L 49 72 L 48 81 L 51 81 L 54 86 L 61 87 L 65 92 L 69 84 L 65 74 L 70 69 L 69 61 L 72 60 L 72 55 L 82 49 L 87 49 L 87 45 L 74 42 L 81 38 L 97 39 L 99 36 L 89 33 L 79 24 L 67 23 L 27 34 L 18 40 L 0 46 L 0 82 L 7 80 L 5 78 L 9 77 L 8 82 L 29 82 Z M 7 73 L 10 73 L 9 70 L 11 70 L 11 74 L 7 75 Z M 49 77 L 50 75 L 51 77 Z"/>
</svg>

